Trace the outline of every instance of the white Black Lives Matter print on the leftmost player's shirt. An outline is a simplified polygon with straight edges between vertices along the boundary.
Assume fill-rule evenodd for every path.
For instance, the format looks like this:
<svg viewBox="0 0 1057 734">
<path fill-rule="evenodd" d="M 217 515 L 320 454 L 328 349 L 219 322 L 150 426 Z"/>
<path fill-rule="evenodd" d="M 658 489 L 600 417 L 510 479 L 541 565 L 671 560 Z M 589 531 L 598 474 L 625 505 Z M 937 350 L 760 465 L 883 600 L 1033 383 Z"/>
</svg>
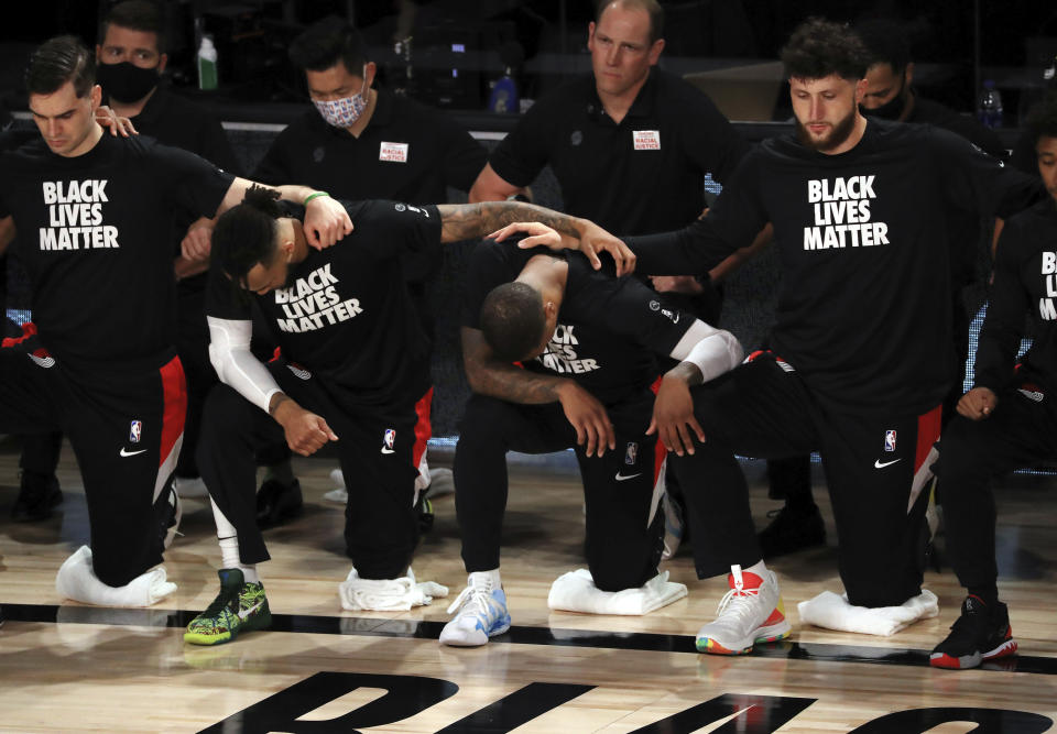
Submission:
<svg viewBox="0 0 1057 734">
<path fill-rule="evenodd" d="M 46 180 L 42 185 L 47 227 L 40 228 L 41 250 L 118 248 L 118 228 L 103 224 L 107 180 Z"/>
</svg>

